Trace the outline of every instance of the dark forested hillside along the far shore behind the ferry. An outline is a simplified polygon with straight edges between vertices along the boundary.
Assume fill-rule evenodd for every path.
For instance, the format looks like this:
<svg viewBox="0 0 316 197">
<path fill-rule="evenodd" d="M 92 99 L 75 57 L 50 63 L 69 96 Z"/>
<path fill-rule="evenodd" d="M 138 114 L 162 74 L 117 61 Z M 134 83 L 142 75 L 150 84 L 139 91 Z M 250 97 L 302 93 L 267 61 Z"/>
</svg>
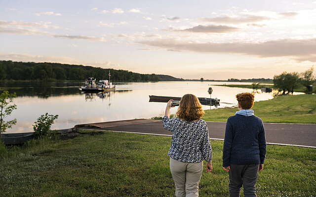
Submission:
<svg viewBox="0 0 316 197">
<path fill-rule="evenodd" d="M 12 61 L 0 61 L 0 80 L 85 80 L 88 77 L 101 80 L 109 78 L 109 70 L 113 82 L 184 80 L 169 75 L 140 74 L 128 70 L 92 66 Z"/>
</svg>

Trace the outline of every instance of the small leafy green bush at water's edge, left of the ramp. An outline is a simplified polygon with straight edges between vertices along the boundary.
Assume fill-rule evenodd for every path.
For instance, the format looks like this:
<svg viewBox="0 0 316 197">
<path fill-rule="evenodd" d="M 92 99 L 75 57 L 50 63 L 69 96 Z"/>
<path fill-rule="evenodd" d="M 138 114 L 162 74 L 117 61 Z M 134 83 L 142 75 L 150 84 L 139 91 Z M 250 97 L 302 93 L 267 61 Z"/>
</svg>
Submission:
<svg viewBox="0 0 316 197">
<path fill-rule="evenodd" d="M 58 115 L 49 115 L 46 113 L 45 115 L 40 115 L 38 120 L 33 125 L 34 137 L 40 138 L 41 136 L 47 135 L 48 131 L 50 131 L 50 127 L 54 124 L 54 120 L 58 118 Z"/>
</svg>

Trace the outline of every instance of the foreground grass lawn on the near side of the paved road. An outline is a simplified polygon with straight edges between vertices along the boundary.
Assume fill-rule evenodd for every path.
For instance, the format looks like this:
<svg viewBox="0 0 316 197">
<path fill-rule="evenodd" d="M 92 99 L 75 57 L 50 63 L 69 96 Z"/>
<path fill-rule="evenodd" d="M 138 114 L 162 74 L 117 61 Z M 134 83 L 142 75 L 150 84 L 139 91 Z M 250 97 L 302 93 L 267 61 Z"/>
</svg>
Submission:
<svg viewBox="0 0 316 197">
<path fill-rule="evenodd" d="M 0 159 L 0 197 L 174 197 L 171 137 L 98 133 L 10 149 Z M 228 197 L 223 141 L 211 143 L 214 169 L 206 173 L 204 162 L 199 195 Z M 316 197 L 315 166 L 316 149 L 268 145 L 258 197 Z"/>
</svg>

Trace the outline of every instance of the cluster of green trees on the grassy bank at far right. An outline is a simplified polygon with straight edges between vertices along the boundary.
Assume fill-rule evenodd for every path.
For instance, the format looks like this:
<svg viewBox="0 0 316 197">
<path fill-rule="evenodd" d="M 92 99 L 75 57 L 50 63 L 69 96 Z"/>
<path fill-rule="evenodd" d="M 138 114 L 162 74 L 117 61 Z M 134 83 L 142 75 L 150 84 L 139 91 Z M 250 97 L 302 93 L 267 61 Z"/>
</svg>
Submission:
<svg viewBox="0 0 316 197">
<path fill-rule="evenodd" d="M 282 92 L 282 95 L 293 94 L 294 89 L 299 86 L 306 87 L 306 92 L 311 92 L 311 87 L 316 82 L 314 75 L 314 67 L 298 73 L 298 72 L 282 72 L 273 78 L 274 87 Z"/>
</svg>

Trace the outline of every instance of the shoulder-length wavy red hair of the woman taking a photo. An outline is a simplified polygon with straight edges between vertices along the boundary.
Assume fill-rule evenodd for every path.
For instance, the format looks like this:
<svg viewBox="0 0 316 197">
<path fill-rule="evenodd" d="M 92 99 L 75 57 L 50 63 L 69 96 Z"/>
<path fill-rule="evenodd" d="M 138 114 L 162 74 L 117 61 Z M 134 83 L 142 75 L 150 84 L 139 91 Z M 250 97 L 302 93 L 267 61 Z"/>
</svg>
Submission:
<svg viewBox="0 0 316 197">
<path fill-rule="evenodd" d="M 195 121 L 200 119 L 204 113 L 197 97 L 192 94 L 186 94 L 181 98 L 176 114 L 181 120 Z"/>
</svg>

